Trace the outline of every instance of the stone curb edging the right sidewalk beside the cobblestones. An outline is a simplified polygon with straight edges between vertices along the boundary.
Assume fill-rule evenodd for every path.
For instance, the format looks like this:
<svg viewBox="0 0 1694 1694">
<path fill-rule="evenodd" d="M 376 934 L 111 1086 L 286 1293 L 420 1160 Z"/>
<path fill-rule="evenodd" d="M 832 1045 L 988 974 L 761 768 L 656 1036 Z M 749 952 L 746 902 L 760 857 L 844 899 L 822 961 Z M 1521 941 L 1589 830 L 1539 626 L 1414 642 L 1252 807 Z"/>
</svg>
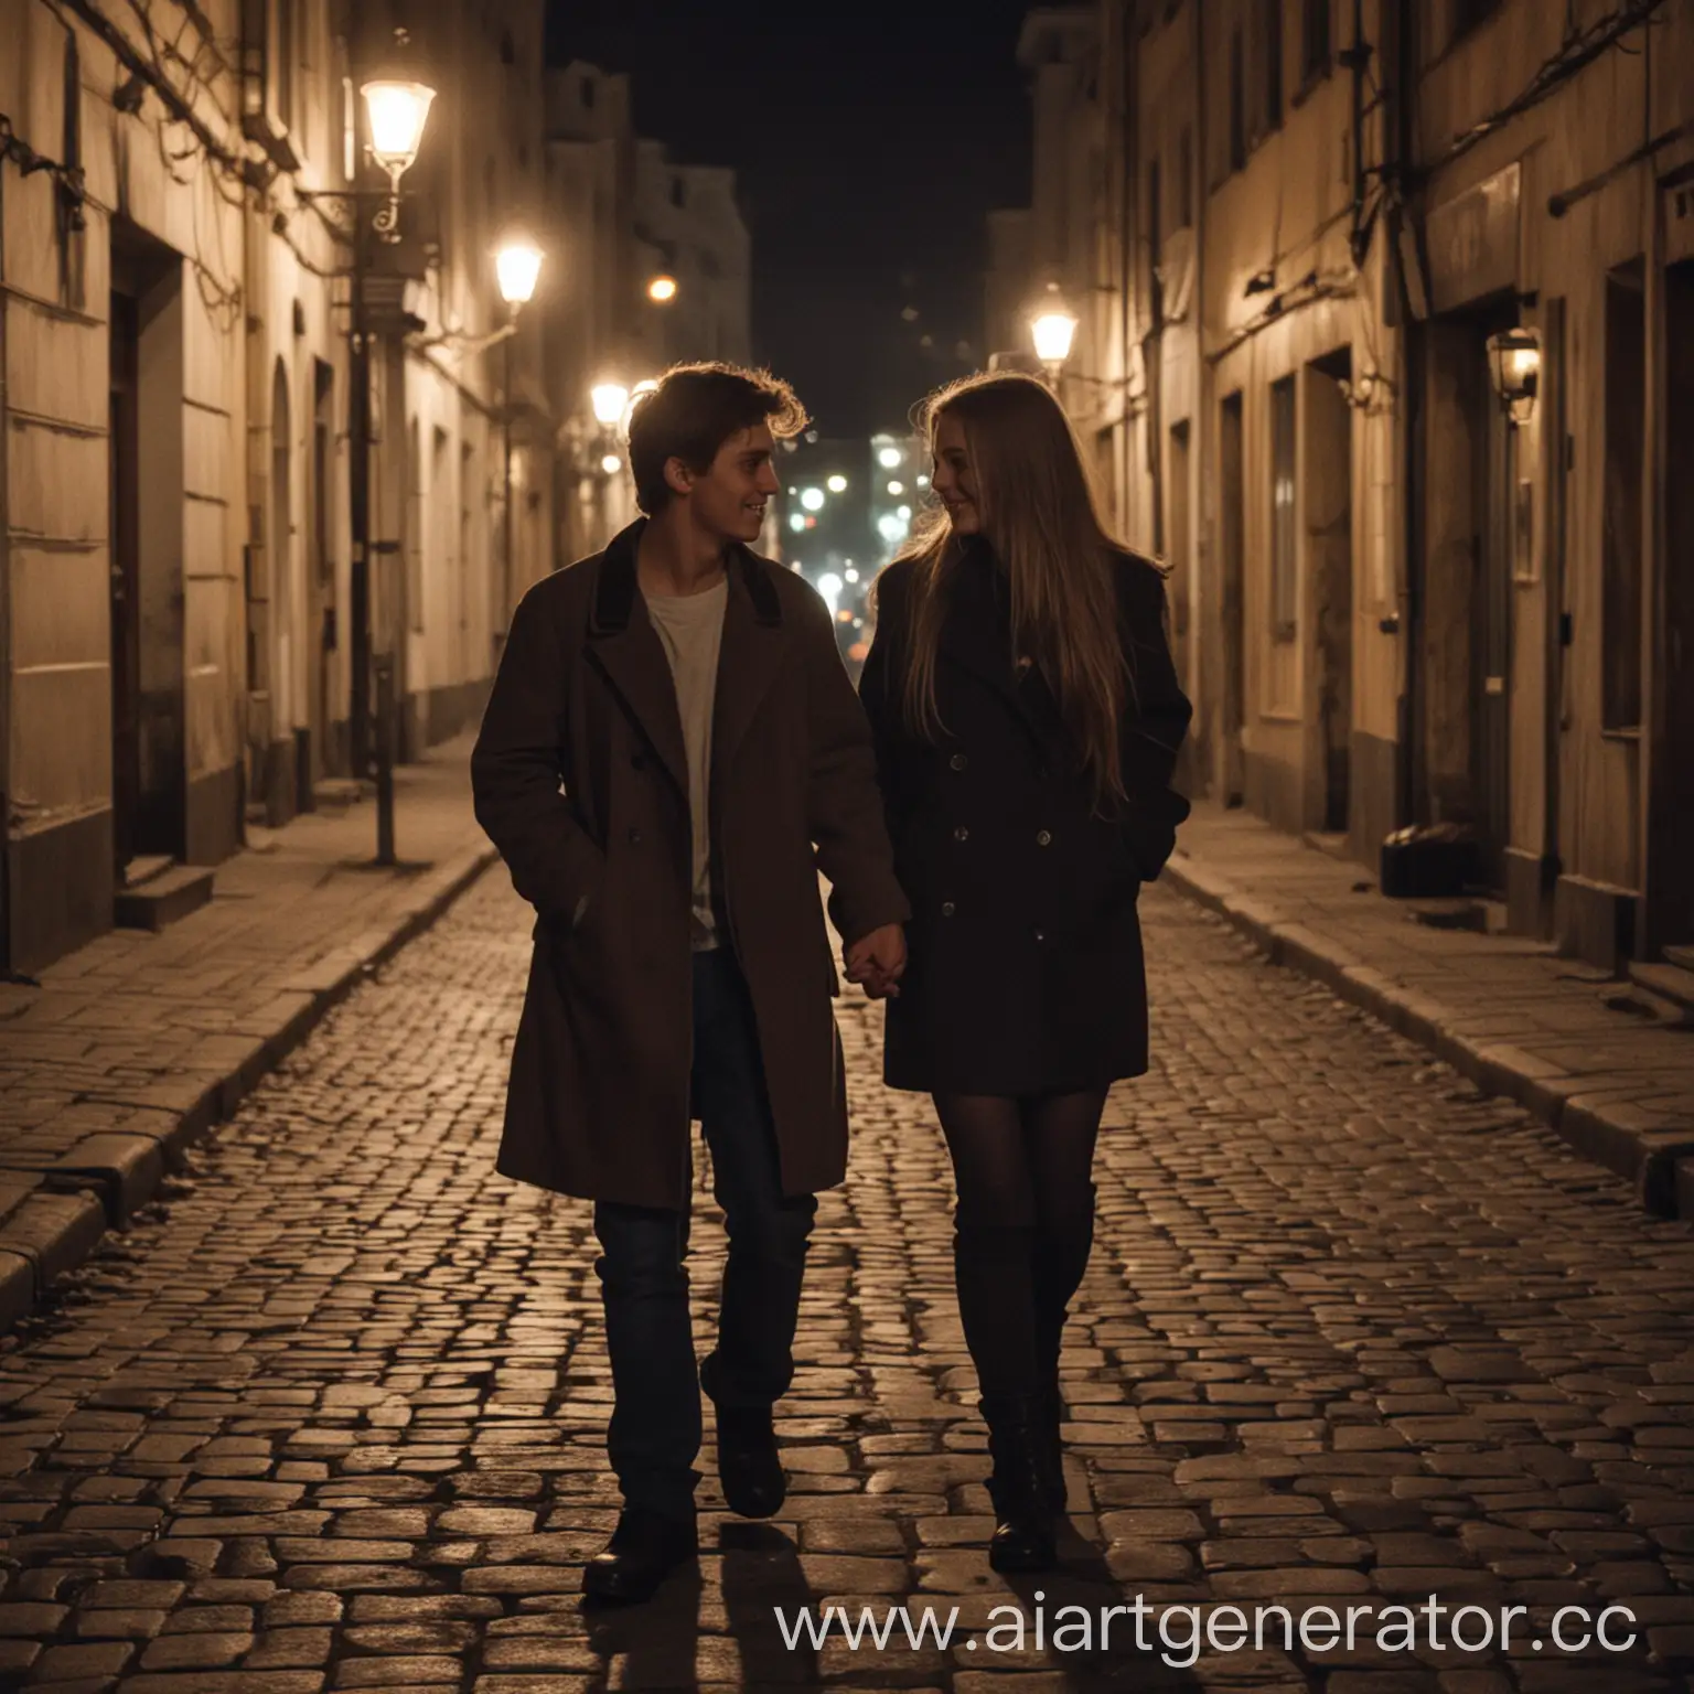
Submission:
<svg viewBox="0 0 1694 1694">
<path fill-rule="evenodd" d="M 1313 977 L 1338 999 L 1428 1047 L 1486 1094 L 1501 1094 L 1533 1111 L 1584 1159 L 1628 1181 L 1647 1211 L 1662 1218 L 1694 1216 L 1694 1128 L 1669 1127 L 1662 1115 L 1630 1101 L 1586 1096 L 1581 1077 L 1521 1047 L 1467 1040 L 1459 1033 L 1460 1015 L 1453 1008 L 1406 988 L 1311 925 L 1286 918 L 1274 900 L 1242 893 L 1198 859 L 1179 852 L 1165 866 L 1164 879 L 1221 916 L 1272 964 Z"/>
</svg>

